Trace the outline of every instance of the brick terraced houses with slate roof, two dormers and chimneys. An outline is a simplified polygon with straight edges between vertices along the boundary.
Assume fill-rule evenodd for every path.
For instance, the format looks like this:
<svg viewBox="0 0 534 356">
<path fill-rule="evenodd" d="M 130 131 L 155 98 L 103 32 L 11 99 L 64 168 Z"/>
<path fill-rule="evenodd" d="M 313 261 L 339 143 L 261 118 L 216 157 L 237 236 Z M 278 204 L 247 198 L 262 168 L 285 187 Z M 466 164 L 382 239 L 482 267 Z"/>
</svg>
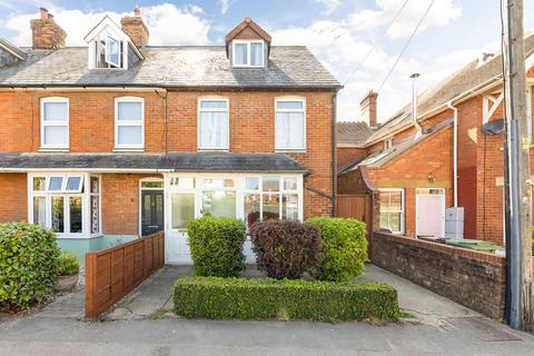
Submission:
<svg viewBox="0 0 534 356">
<path fill-rule="evenodd" d="M 40 11 L 31 48 L 0 40 L 1 221 L 77 251 L 165 230 L 176 264 L 202 215 L 334 214 L 342 86 L 306 47 L 271 46 L 250 18 L 220 46 L 152 47 L 138 8 L 65 47 Z"/>
</svg>

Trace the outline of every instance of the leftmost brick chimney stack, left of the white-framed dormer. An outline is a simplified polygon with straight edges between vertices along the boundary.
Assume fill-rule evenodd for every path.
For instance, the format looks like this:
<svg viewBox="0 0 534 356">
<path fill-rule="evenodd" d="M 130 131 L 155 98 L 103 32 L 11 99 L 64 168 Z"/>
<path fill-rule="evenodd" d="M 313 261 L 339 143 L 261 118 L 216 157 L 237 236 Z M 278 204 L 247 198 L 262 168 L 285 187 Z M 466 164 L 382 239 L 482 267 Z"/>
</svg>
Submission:
<svg viewBox="0 0 534 356">
<path fill-rule="evenodd" d="M 59 49 L 65 47 L 65 39 L 67 32 L 56 23 L 53 14 L 49 13 L 47 9 L 39 9 L 40 18 L 32 19 L 31 39 L 33 49 Z"/>
</svg>

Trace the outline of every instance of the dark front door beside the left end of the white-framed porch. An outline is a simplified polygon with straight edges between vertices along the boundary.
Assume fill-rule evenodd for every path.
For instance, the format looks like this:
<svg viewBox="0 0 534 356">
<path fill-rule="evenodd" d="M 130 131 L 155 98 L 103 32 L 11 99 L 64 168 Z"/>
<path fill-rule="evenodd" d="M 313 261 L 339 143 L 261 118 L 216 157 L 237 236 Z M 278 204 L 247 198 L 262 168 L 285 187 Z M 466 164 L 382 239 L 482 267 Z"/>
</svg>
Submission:
<svg viewBox="0 0 534 356">
<path fill-rule="evenodd" d="M 164 190 L 141 190 L 141 234 L 150 235 L 165 228 Z"/>
</svg>

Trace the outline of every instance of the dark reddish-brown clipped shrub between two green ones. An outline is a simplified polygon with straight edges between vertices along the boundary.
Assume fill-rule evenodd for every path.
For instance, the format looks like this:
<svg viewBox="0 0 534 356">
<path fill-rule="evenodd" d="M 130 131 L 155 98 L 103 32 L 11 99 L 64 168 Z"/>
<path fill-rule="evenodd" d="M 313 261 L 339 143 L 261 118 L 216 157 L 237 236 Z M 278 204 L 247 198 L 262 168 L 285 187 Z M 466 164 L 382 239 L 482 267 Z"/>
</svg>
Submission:
<svg viewBox="0 0 534 356">
<path fill-rule="evenodd" d="M 296 220 L 269 220 L 250 227 L 258 268 L 271 278 L 297 279 L 315 267 L 320 253 L 319 229 Z"/>
</svg>

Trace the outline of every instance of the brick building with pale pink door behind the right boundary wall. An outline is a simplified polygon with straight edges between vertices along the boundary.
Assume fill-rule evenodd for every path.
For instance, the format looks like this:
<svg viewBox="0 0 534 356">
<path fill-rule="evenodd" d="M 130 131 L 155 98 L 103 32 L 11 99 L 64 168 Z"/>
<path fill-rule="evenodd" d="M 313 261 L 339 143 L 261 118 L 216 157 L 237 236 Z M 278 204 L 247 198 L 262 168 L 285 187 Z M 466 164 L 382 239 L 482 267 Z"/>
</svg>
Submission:
<svg viewBox="0 0 534 356">
<path fill-rule="evenodd" d="M 527 140 L 534 157 L 533 34 L 525 36 L 525 52 Z M 365 103 L 376 106 L 376 99 L 373 92 L 364 99 L 364 119 L 369 111 Z M 354 135 L 352 160 L 340 154 L 346 148 L 338 142 L 337 192 L 373 195 L 375 229 L 407 236 L 474 238 L 503 245 L 501 55 L 484 53 L 416 96 L 416 108 L 415 118 L 408 103 L 370 135 L 368 128 L 362 126 L 362 132 Z M 376 112 L 376 108 L 370 111 Z M 339 136 L 344 126 L 338 123 Z M 367 136 L 364 142 L 360 135 Z M 454 207 L 463 209 L 448 209 Z M 457 222 L 462 220 L 463 228 L 462 222 Z"/>
</svg>

